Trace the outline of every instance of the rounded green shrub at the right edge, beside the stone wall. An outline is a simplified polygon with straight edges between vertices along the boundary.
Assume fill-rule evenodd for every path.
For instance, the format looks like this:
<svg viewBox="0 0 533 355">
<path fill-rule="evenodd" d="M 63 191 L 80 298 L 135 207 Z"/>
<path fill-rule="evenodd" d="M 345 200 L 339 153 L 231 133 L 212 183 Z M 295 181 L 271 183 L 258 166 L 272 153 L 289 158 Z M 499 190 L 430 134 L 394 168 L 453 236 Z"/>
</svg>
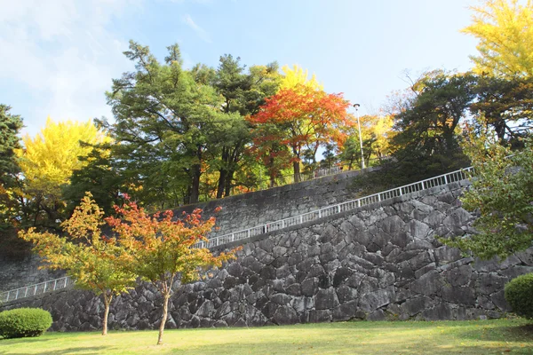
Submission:
<svg viewBox="0 0 533 355">
<path fill-rule="evenodd" d="M 533 273 L 509 281 L 505 285 L 505 301 L 517 315 L 533 319 Z"/>
</svg>

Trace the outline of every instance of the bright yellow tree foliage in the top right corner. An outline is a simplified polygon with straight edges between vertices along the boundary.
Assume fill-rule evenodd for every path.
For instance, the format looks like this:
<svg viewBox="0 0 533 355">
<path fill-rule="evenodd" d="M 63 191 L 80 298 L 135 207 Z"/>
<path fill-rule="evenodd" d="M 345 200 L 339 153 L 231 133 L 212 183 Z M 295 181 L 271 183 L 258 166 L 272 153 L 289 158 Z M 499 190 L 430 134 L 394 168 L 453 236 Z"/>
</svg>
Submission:
<svg viewBox="0 0 533 355">
<path fill-rule="evenodd" d="M 533 75 L 533 0 L 486 0 L 474 6 L 472 25 L 462 32 L 475 36 L 474 71 L 498 77 Z"/>
</svg>

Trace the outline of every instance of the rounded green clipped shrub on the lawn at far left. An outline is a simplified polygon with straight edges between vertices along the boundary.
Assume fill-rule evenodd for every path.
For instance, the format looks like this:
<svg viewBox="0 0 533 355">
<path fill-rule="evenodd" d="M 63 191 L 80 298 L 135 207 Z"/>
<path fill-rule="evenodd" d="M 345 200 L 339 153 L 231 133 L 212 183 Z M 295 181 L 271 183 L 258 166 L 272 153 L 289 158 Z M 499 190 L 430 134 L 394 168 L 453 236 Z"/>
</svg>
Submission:
<svg viewBox="0 0 533 355">
<path fill-rule="evenodd" d="M 17 308 L 0 312 L 0 335 L 4 338 L 39 336 L 52 326 L 50 312 L 40 308 Z"/>
</svg>

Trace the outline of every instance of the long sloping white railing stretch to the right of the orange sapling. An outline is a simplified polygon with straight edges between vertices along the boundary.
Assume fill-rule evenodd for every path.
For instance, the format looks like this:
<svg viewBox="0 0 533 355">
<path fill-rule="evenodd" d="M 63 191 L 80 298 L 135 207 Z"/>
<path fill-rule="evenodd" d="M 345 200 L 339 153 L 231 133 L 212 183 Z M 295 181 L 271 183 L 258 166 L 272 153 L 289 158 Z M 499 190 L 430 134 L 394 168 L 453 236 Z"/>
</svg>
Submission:
<svg viewBox="0 0 533 355">
<path fill-rule="evenodd" d="M 199 243 L 196 243 L 195 248 L 212 248 L 233 241 L 243 241 L 259 234 L 278 231 L 293 225 L 301 225 L 303 223 L 313 221 L 322 217 L 328 217 L 349 210 L 358 209 L 362 206 L 369 205 L 370 203 L 386 201 L 407 193 L 416 193 L 418 191 L 427 190 L 433 187 L 463 181 L 468 178 L 466 171 L 471 170 L 472 167 L 452 171 L 447 174 L 439 175 L 438 177 L 426 178 L 426 180 L 421 180 L 416 183 L 395 187 L 393 189 L 382 191 L 380 193 L 374 193 L 357 200 L 338 203 L 336 205 L 324 207 L 322 209 L 315 209 L 314 211 L 307 212 L 295 217 L 288 217 L 274 222 L 268 222 L 263 225 L 257 225 L 255 227 L 244 229 L 242 231 L 227 233 L 218 237 L 212 237 L 209 239 L 209 241 L 201 241 Z"/>
</svg>

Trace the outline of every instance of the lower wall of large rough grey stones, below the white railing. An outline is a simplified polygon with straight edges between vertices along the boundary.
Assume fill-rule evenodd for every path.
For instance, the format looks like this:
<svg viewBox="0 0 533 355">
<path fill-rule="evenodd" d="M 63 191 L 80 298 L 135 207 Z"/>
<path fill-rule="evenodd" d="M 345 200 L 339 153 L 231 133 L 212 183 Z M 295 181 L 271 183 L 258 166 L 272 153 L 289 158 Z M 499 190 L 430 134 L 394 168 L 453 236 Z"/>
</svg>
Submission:
<svg viewBox="0 0 533 355">
<path fill-rule="evenodd" d="M 250 241 L 235 262 L 177 288 L 167 327 L 500 317 L 505 282 L 533 272 L 533 248 L 497 264 L 442 246 L 436 235 L 457 235 L 475 218 L 460 207 L 460 192 L 449 185 Z M 161 302 L 139 285 L 115 298 L 109 325 L 155 328 Z M 54 330 L 97 328 L 103 312 L 99 298 L 78 290 L 4 309 L 20 306 L 51 311 Z"/>
</svg>

